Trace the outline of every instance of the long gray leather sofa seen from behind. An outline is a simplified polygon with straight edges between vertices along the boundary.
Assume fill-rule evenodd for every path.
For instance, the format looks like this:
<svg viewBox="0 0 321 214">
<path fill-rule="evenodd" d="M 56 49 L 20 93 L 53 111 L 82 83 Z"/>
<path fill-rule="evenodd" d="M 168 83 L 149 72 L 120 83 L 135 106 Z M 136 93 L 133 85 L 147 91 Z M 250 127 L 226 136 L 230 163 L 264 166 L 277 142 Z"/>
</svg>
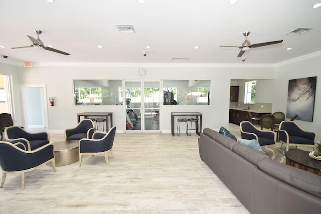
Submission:
<svg viewBox="0 0 321 214">
<path fill-rule="evenodd" d="M 271 160 L 212 129 L 201 133 L 201 159 L 251 213 L 321 213 L 321 177 Z"/>
</svg>

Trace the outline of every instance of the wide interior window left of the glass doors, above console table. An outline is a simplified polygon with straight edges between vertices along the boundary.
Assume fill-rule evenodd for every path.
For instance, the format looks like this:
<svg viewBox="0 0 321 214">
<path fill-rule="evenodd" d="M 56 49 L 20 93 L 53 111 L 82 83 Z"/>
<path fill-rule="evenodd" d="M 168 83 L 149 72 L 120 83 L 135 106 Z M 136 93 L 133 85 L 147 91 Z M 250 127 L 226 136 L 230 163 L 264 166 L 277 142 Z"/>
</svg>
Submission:
<svg viewBox="0 0 321 214">
<path fill-rule="evenodd" d="M 119 105 L 122 80 L 74 80 L 75 105 Z"/>
</svg>

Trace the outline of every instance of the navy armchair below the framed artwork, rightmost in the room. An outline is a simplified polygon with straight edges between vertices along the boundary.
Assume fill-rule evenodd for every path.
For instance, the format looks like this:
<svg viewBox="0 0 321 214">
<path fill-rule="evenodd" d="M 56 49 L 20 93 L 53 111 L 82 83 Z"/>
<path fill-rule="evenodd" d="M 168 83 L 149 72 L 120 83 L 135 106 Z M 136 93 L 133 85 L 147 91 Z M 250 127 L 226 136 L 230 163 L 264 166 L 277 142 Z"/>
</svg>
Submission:
<svg viewBox="0 0 321 214">
<path fill-rule="evenodd" d="M 279 139 L 282 143 L 286 143 L 286 151 L 289 150 L 289 145 L 305 145 L 316 148 L 317 134 L 313 131 L 305 131 L 298 126 L 294 121 L 285 120 L 280 123 Z"/>
</svg>

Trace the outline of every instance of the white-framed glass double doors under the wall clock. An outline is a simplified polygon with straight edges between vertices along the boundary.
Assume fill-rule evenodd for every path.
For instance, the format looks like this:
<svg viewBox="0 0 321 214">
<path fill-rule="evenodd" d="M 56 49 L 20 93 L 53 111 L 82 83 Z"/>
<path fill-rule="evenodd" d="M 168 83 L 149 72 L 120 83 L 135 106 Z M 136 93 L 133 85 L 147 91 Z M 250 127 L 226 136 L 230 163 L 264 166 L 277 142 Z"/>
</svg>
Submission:
<svg viewBox="0 0 321 214">
<path fill-rule="evenodd" d="M 125 81 L 126 132 L 159 132 L 159 82 Z"/>
</svg>

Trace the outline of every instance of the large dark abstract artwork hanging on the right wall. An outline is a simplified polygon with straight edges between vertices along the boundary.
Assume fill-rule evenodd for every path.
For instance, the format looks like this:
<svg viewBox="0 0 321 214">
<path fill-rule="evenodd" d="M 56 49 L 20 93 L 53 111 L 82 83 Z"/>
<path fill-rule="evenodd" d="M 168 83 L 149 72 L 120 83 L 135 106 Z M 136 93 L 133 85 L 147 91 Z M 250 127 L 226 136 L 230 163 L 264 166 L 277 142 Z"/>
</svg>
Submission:
<svg viewBox="0 0 321 214">
<path fill-rule="evenodd" d="M 316 77 L 289 80 L 286 117 L 313 122 Z"/>
</svg>

